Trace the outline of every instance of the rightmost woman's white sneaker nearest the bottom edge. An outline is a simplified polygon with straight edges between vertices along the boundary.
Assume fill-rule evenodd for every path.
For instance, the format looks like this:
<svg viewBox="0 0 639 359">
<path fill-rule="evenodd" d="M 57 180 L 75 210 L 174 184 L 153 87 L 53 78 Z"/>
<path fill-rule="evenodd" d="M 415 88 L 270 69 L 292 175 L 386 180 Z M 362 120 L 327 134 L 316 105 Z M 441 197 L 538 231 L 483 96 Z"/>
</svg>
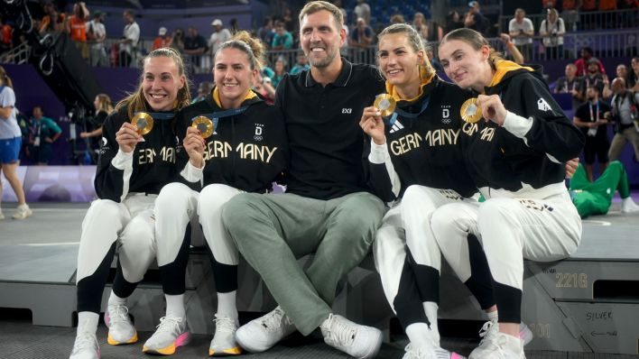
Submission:
<svg viewBox="0 0 639 359">
<path fill-rule="evenodd" d="M 530 329 L 528 331 L 530 331 Z M 532 340 L 532 333 L 530 333 L 530 335 L 531 335 L 530 340 Z M 525 359 L 525 356 L 523 355 L 524 341 L 521 338 L 522 336 L 521 331 L 520 331 L 520 338 L 517 338 L 514 336 L 508 336 L 507 334 L 499 333 L 499 323 L 487 321 L 486 323 L 484 323 L 484 326 L 481 328 L 481 331 L 479 331 L 479 336 L 483 337 L 483 339 L 481 340 L 477 348 L 475 348 L 470 353 L 470 355 L 468 355 L 468 359 L 485 359 L 485 358 L 493 359 L 497 357 Z M 506 340 L 510 338 L 513 338 L 513 340 L 510 340 L 510 341 Z M 518 343 L 521 346 L 521 353 L 517 352 L 516 356 L 512 356 L 511 354 L 513 353 L 507 354 L 506 356 L 503 356 L 503 355 L 500 356 L 501 353 L 504 351 L 504 348 L 502 348 L 502 346 L 504 346 L 505 344 L 510 344 L 507 346 L 513 349 L 513 347 L 516 346 L 514 345 L 514 343 Z M 511 352 L 512 351 L 513 350 L 511 350 Z"/>
</svg>

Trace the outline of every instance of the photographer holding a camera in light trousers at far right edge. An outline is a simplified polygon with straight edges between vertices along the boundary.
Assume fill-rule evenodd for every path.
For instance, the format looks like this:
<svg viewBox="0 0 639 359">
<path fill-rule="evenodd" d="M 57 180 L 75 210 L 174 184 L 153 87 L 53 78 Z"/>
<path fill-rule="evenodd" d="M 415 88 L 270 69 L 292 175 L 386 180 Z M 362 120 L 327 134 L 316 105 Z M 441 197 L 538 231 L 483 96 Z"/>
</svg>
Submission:
<svg viewBox="0 0 639 359">
<path fill-rule="evenodd" d="M 627 89 L 624 78 L 615 78 L 612 90 L 615 95 L 610 105 L 616 131 L 610 143 L 608 158 L 610 161 L 619 160 L 625 143 L 630 143 L 634 149 L 634 158 L 639 160 L 639 92 Z"/>
</svg>

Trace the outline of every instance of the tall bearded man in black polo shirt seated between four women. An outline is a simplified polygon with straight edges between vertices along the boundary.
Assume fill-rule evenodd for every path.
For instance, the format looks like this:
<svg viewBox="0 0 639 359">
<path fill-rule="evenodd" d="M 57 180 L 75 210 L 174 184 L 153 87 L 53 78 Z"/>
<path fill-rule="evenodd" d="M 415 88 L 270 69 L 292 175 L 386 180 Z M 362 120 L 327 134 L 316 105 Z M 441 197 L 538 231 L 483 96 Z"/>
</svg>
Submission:
<svg viewBox="0 0 639 359">
<path fill-rule="evenodd" d="M 228 233 L 262 275 L 280 307 L 240 327 L 236 339 L 263 352 L 295 329 L 320 327 L 327 344 L 347 354 L 373 357 L 381 333 L 332 313 L 338 281 L 368 253 L 384 214 L 371 194 L 364 166 L 359 117 L 384 83 L 372 66 L 339 57 L 346 32 L 342 14 L 323 1 L 300 13 L 301 49 L 310 70 L 277 87 L 289 136 L 287 193 L 241 194 L 224 209 Z M 306 270 L 296 262 L 315 253 Z"/>
</svg>

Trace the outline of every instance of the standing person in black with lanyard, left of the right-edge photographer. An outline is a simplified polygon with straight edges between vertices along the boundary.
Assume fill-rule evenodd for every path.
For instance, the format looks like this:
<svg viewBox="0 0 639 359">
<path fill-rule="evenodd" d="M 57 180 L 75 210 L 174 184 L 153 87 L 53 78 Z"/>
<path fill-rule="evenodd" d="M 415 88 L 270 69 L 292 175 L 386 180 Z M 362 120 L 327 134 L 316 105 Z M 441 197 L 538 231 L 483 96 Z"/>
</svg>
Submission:
<svg viewBox="0 0 639 359">
<path fill-rule="evenodd" d="M 593 164 L 595 159 L 599 162 L 599 171 L 606 170 L 608 165 L 608 142 L 607 124 L 612 119 L 610 106 L 600 99 L 601 90 L 595 85 L 586 87 L 586 97 L 588 102 L 579 106 L 573 123 L 581 128 L 581 132 L 586 135 L 584 145 L 584 162 L 588 180 L 594 179 Z"/>
</svg>

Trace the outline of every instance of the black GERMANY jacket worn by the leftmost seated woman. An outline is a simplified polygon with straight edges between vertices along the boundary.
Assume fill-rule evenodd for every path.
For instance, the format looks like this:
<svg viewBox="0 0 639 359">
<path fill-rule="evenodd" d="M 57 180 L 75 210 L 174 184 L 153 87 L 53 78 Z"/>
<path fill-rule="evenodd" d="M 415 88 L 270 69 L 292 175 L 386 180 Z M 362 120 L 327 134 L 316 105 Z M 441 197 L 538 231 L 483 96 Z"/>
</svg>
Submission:
<svg viewBox="0 0 639 359">
<path fill-rule="evenodd" d="M 119 152 L 116 132 L 129 122 L 126 106 L 106 117 L 94 185 L 98 198 L 121 202 L 129 193 L 158 194 L 178 178 L 177 139 L 172 120 L 154 119 L 153 130 L 128 154 Z M 119 152 L 119 153 L 118 153 Z"/>
</svg>

